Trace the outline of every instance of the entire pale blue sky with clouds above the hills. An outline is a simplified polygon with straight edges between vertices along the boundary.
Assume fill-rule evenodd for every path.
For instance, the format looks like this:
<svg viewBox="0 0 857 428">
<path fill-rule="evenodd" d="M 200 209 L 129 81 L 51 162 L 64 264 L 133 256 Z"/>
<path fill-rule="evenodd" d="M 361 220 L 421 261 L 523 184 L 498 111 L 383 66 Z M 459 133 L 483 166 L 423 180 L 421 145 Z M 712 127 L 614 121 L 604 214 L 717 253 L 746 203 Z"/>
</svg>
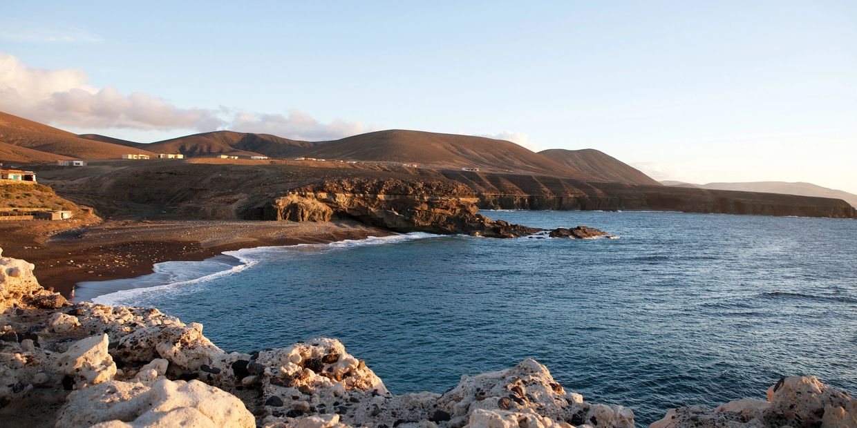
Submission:
<svg viewBox="0 0 857 428">
<path fill-rule="evenodd" d="M 315 3 L 315 4 L 313 4 Z M 405 128 L 857 193 L 857 2 L 12 2 L 0 110 L 149 142 Z"/>
</svg>

